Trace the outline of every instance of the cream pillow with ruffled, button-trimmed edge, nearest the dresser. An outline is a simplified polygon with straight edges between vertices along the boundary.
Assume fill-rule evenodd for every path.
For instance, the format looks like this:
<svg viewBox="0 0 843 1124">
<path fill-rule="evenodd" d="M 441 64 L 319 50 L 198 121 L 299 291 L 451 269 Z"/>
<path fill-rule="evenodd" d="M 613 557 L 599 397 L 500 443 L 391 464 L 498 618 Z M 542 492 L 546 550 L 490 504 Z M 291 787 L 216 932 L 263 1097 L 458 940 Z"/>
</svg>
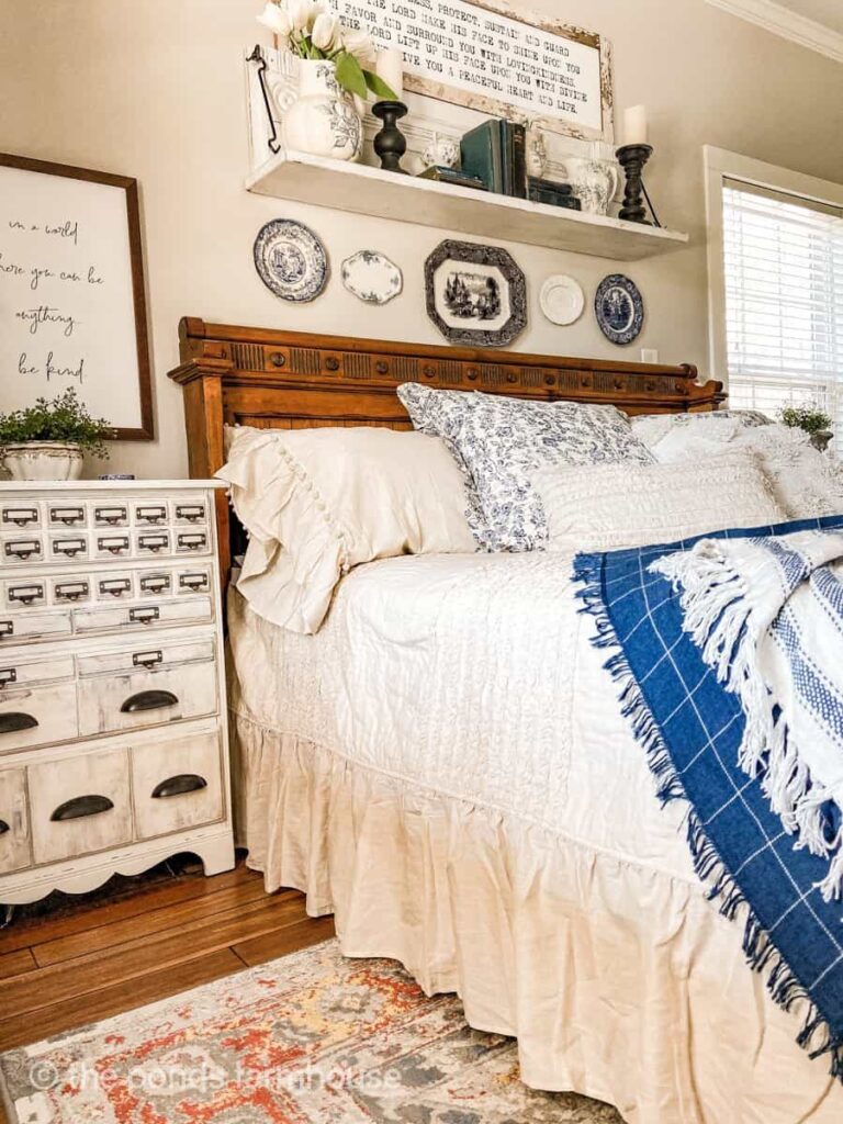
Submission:
<svg viewBox="0 0 843 1124">
<path fill-rule="evenodd" d="M 352 566 L 473 552 L 464 486 L 437 437 L 392 429 L 235 429 L 217 475 L 250 534 L 237 588 L 262 617 L 315 633 Z"/>
</svg>

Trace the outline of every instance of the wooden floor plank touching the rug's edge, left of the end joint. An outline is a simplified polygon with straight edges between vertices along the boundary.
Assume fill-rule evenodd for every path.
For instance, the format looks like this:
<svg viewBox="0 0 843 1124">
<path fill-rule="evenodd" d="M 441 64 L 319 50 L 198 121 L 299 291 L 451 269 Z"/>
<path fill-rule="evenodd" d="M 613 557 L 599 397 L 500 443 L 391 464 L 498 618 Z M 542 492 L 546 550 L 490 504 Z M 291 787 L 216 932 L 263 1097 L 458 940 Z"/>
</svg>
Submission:
<svg viewBox="0 0 843 1124">
<path fill-rule="evenodd" d="M 167 999 L 170 996 L 201 987 L 212 980 L 243 971 L 243 963 L 230 949 L 219 949 L 207 957 L 198 957 L 179 964 L 175 969 L 164 968 L 149 972 L 128 984 L 116 984 L 87 996 L 84 1005 L 79 999 L 53 1004 L 38 1012 L 37 1016 L 0 1022 L 0 1050 L 12 1050 L 28 1045 L 52 1034 L 74 1030 L 88 1023 L 110 1018 L 125 1010 L 134 1010 L 147 1003 Z M 82 1016 L 82 1022 L 80 1022 Z"/>
</svg>

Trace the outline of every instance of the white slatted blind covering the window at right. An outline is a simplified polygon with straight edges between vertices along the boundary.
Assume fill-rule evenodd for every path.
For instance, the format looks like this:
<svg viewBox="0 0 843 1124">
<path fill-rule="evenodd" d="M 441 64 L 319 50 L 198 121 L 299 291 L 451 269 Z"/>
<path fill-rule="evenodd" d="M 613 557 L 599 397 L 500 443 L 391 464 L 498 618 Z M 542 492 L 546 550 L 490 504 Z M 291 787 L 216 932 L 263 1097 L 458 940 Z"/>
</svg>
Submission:
<svg viewBox="0 0 843 1124">
<path fill-rule="evenodd" d="M 726 180 L 729 405 L 814 401 L 843 450 L 843 208 Z"/>
</svg>

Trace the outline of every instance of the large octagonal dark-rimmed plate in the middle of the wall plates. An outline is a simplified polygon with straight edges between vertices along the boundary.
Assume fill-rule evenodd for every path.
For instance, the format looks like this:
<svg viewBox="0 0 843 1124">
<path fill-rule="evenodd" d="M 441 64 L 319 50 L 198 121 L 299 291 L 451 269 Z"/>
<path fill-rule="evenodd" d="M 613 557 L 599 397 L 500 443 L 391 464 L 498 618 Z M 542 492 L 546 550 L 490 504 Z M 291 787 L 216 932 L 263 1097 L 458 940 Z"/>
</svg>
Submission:
<svg viewBox="0 0 843 1124">
<path fill-rule="evenodd" d="M 524 273 L 506 250 L 441 242 L 425 262 L 427 315 L 453 344 L 506 347 L 527 324 Z"/>
</svg>

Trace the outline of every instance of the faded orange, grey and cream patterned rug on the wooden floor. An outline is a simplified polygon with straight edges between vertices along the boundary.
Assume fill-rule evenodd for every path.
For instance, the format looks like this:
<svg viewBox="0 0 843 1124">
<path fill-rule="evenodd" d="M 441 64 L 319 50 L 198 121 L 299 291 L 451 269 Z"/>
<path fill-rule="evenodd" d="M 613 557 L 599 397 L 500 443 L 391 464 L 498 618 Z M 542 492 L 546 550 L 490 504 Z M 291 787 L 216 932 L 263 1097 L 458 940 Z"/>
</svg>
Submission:
<svg viewBox="0 0 843 1124">
<path fill-rule="evenodd" d="M 0 1057 L 10 1124 L 623 1124 L 336 941 Z"/>
</svg>

